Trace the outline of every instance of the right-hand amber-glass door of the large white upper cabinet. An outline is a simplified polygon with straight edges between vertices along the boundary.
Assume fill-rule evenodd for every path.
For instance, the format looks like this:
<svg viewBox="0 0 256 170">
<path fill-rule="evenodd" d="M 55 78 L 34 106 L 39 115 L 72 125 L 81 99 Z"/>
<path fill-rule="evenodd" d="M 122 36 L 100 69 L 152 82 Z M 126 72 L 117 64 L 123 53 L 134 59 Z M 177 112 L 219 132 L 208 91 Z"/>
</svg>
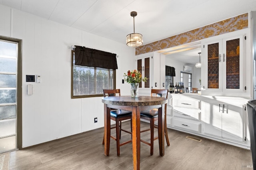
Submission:
<svg viewBox="0 0 256 170">
<path fill-rule="evenodd" d="M 223 39 L 223 91 L 243 91 L 243 36 Z"/>
</svg>

